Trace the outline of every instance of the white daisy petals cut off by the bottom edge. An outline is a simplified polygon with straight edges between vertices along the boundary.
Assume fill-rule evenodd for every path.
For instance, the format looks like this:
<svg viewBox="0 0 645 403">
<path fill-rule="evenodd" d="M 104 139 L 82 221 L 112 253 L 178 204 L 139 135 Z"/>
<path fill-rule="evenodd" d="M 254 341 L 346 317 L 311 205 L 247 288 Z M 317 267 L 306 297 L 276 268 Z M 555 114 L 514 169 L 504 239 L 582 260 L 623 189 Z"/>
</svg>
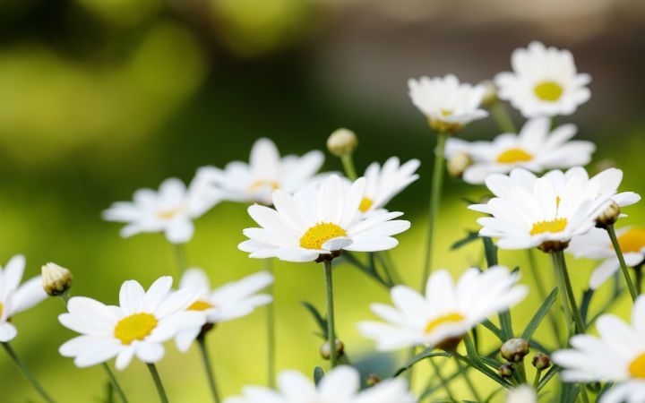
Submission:
<svg viewBox="0 0 645 403">
<path fill-rule="evenodd" d="M 327 373 L 316 387 L 303 373 L 284 371 L 278 378 L 280 390 L 247 386 L 242 396 L 224 403 L 415 403 L 408 382 L 390 379 L 360 390 L 360 374 L 355 368 L 341 365 Z"/>
</svg>

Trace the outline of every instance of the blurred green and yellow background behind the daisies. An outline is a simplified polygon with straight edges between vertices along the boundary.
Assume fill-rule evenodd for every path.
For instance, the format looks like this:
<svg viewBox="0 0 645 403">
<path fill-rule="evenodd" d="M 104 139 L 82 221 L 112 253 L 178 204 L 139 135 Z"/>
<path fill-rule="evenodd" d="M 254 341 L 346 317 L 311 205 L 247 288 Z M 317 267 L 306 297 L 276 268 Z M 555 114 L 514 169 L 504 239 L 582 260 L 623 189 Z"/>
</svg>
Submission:
<svg viewBox="0 0 645 403">
<path fill-rule="evenodd" d="M 476 82 L 508 70 L 512 49 L 530 40 L 570 48 L 581 72 L 593 76 L 593 96 L 562 121 L 598 143 L 596 162 L 611 159 L 624 169 L 624 189 L 645 193 L 644 22 L 638 0 L 2 0 L 0 261 L 24 253 L 28 276 L 57 262 L 73 270 L 74 295 L 116 303 L 125 279 L 148 286 L 174 274 L 175 261 L 160 235 L 119 238 L 119 226 L 100 219 L 112 201 L 129 200 L 137 188 L 157 187 L 168 176 L 188 181 L 202 165 L 247 159 L 261 136 L 284 153 L 304 153 L 323 150 L 329 133 L 347 126 L 360 138 L 359 170 L 392 155 L 422 160 L 421 179 L 391 204 L 413 223 L 392 255 L 417 287 L 434 135 L 409 102 L 407 79 L 457 73 Z M 488 119 L 462 134 L 496 133 Z M 328 155 L 325 168 L 338 170 L 340 163 Z M 477 228 L 477 214 L 460 198 L 484 193 L 448 180 L 437 266 L 457 274 L 479 262 L 478 243 L 449 248 Z M 643 205 L 628 213 L 625 223 L 645 224 Z M 251 225 L 245 206 L 220 204 L 198 220 L 189 262 L 208 270 L 214 284 L 261 270 L 262 262 L 236 249 L 242 228 Z M 501 254 L 508 266 L 524 265 L 523 257 Z M 539 263 L 550 284 L 546 256 Z M 594 262 L 571 264 L 581 292 Z M 300 301 L 323 307 L 322 270 L 280 262 L 276 277 L 279 367 L 309 373 L 321 364 L 321 340 Z M 524 279 L 531 282 L 529 274 Z M 351 357 L 366 365 L 374 360 L 372 344 L 354 324 L 373 318 L 368 304 L 388 295 L 349 266 L 338 268 L 336 290 L 340 335 Z M 520 304 L 516 329 L 538 304 L 535 295 Z M 626 316 L 627 307 L 623 299 L 613 311 Z M 59 401 L 101 401 L 100 368 L 80 370 L 57 354 L 73 336 L 56 321 L 63 310 L 52 299 L 14 318 L 13 345 Z M 263 324 L 261 309 L 211 336 L 224 395 L 265 382 Z M 377 358 L 388 374 L 403 357 Z M 168 345 L 159 370 L 172 400 L 210 400 L 196 350 L 181 355 Z M 131 401 L 156 399 L 141 363 L 118 377 Z M 427 377 L 418 371 L 417 384 Z M 6 356 L 0 400 L 39 401 Z"/>
</svg>

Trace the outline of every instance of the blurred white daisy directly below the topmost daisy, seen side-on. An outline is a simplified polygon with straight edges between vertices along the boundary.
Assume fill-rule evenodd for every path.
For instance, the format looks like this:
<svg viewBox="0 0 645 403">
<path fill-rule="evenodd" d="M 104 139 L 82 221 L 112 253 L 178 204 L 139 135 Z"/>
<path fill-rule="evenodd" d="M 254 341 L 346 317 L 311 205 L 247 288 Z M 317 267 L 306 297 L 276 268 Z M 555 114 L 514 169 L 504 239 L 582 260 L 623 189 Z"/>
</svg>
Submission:
<svg viewBox="0 0 645 403">
<path fill-rule="evenodd" d="M 483 184 L 486 176 L 506 174 L 512 168 L 523 167 L 533 172 L 546 169 L 586 165 L 596 146 L 591 141 L 571 141 L 577 128 L 563 124 L 553 131 L 546 117 L 530 119 L 519 134 L 503 133 L 494 141 L 468 142 L 448 139 L 446 156 L 464 152 L 473 164 L 463 173 L 469 184 Z"/>
</svg>

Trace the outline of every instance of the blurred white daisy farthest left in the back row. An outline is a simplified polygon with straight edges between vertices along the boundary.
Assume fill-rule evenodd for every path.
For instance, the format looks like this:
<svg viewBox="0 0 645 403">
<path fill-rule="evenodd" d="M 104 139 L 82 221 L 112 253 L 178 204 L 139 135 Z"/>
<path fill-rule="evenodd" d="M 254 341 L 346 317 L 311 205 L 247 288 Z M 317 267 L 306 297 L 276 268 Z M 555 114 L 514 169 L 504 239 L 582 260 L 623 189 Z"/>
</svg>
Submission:
<svg viewBox="0 0 645 403">
<path fill-rule="evenodd" d="M 140 189 L 133 201 L 116 201 L 103 212 L 107 221 L 125 222 L 121 236 L 142 232 L 164 232 L 169 242 L 184 244 L 193 237 L 193 219 L 202 216 L 221 200 L 219 191 L 199 177 L 186 189 L 176 178 L 165 180 L 159 192 Z"/>
</svg>

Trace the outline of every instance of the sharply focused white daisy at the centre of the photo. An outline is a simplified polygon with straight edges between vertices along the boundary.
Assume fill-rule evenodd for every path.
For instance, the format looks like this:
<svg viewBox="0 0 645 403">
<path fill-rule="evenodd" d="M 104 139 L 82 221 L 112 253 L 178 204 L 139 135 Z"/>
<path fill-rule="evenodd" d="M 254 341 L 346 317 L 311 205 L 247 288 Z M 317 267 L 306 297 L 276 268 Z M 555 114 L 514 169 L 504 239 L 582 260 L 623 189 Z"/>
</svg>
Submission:
<svg viewBox="0 0 645 403">
<path fill-rule="evenodd" d="M 275 210 L 254 205 L 248 211 L 260 228 L 246 228 L 249 240 L 239 249 L 252 258 L 277 257 L 288 262 L 313 262 L 334 257 L 340 250 L 376 252 L 399 242 L 391 237 L 407 230 L 409 221 L 394 220 L 401 212 L 364 217 L 358 210 L 366 179 L 349 188 L 339 176 L 329 176 L 319 189 L 291 195 L 273 193 Z"/>
</svg>

